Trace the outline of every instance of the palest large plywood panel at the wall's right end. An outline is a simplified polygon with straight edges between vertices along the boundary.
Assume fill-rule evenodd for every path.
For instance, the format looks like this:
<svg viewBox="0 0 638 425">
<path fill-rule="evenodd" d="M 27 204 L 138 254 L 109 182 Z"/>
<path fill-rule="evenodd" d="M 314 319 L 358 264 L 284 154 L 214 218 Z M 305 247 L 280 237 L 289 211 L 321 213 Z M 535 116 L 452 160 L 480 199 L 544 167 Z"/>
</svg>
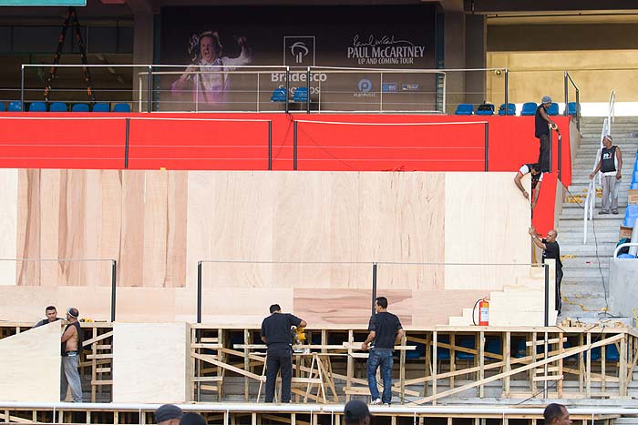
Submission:
<svg viewBox="0 0 638 425">
<path fill-rule="evenodd" d="M 501 289 L 529 274 L 530 206 L 512 173 L 448 173 L 445 187 L 446 289 Z M 521 266 L 468 266 L 467 264 Z"/>
</svg>

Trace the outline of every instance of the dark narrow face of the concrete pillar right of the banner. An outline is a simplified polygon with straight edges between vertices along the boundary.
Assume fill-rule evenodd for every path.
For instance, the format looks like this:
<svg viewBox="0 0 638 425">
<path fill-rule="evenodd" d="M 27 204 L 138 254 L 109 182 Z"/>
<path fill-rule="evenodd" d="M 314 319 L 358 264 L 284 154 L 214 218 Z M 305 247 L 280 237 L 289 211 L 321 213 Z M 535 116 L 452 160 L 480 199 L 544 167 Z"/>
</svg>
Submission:
<svg viewBox="0 0 638 425">
<path fill-rule="evenodd" d="M 485 15 L 465 16 L 465 65 L 468 68 L 484 68 L 487 65 L 487 25 Z M 484 100 L 497 102 L 497 99 L 485 98 L 486 76 L 482 72 L 470 72 L 465 77 L 468 95 L 467 103 L 477 105 Z M 499 105 L 496 105 L 499 107 Z"/>
</svg>

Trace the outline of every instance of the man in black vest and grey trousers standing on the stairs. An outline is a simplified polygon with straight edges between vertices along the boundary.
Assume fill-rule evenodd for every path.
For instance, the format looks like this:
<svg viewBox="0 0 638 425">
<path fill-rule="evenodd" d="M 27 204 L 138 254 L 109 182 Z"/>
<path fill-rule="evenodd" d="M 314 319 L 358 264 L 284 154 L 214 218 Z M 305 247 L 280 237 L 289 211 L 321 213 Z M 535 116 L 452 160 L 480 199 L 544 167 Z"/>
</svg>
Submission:
<svg viewBox="0 0 638 425">
<path fill-rule="evenodd" d="M 601 150 L 601 157 L 590 174 L 590 180 L 599 171 L 602 173 L 602 206 L 598 214 L 609 214 L 610 197 L 612 198 L 612 214 L 618 214 L 618 187 L 622 177 L 623 155 L 620 147 L 612 145 L 612 137 L 609 135 L 602 139 L 602 145 L 604 147 Z"/>
</svg>

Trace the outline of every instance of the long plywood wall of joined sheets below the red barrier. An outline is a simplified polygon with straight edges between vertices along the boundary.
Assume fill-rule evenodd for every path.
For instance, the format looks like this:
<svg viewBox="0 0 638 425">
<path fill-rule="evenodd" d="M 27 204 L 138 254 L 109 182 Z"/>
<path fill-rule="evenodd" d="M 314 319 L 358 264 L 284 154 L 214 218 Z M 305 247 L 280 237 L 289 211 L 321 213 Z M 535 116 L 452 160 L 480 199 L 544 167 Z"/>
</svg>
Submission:
<svg viewBox="0 0 638 425">
<path fill-rule="evenodd" d="M 7 235 L 14 229 L 16 257 L 117 259 L 121 320 L 193 320 L 200 261 L 203 320 L 238 325 L 259 325 L 275 302 L 314 325 L 365 324 L 373 262 L 377 294 L 387 294 L 390 309 L 413 326 L 447 323 L 486 291 L 529 274 L 522 265 L 530 261 L 530 210 L 512 173 L 15 176 L 0 175 L 0 187 L 16 181 L 15 202 L 0 206 L 0 219 Z M 108 261 L 18 262 L 3 270 L 0 303 L 9 309 L 0 315 L 35 320 L 46 301 L 109 317 Z M 12 309 L 9 300 L 26 309 Z M 445 309 L 423 307 L 427 300 Z"/>
</svg>

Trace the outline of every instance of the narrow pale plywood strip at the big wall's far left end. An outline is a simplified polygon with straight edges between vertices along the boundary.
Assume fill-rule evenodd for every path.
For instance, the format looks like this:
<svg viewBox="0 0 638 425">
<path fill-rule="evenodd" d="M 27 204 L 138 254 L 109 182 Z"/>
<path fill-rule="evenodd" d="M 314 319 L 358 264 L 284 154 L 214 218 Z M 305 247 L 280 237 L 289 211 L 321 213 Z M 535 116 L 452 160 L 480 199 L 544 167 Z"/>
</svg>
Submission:
<svg viewBox="0 0 638 425">
<path fill-rule="evenodd" d="M 17 256 L 17 170 L 0 169 L 0 258 Z M 0 261 L 0 286 L 15 285 L 15 261 Z"/>
</svg>

